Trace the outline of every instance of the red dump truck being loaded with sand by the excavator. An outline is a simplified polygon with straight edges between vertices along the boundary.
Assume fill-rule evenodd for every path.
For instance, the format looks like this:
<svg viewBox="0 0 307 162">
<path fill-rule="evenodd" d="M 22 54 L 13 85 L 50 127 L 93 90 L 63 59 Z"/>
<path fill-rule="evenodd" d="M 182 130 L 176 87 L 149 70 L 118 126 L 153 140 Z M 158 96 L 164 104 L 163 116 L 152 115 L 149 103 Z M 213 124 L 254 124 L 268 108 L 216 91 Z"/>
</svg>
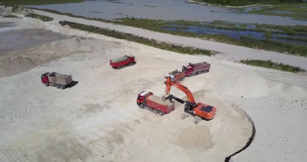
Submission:
<svg viewBox="0 0 307 162">
<path fill-rule="evenodd" d="M 137 95 L 136 103 L 140 108 L 146 108 L 161 116 L 170 113 L 175 109 L 175 104 L 169 100 L 163 101 L 161 97 L 155 96 L 152 92 L 142 91 Z"/>
</svg>

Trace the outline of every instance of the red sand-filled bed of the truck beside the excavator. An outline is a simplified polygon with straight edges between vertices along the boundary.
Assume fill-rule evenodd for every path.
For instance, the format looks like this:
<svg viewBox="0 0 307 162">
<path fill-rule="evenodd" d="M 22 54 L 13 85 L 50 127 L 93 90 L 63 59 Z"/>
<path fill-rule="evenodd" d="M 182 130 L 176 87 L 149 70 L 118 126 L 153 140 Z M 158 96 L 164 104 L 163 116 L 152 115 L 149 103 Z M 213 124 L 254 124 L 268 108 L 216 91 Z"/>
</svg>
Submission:
<svg viewBox="0 0 307 162">
<path fill-rule="evenodd" d="M 146 98 L 146 103 L 151 108 L 155 108 L 161 110 L 165 113 L 170 113 L 172 110 L 175 109 L 175 104 L 171 103 L 170 101 L 163 101 L 161 97 L 150 95 Z"/>
</svg>

